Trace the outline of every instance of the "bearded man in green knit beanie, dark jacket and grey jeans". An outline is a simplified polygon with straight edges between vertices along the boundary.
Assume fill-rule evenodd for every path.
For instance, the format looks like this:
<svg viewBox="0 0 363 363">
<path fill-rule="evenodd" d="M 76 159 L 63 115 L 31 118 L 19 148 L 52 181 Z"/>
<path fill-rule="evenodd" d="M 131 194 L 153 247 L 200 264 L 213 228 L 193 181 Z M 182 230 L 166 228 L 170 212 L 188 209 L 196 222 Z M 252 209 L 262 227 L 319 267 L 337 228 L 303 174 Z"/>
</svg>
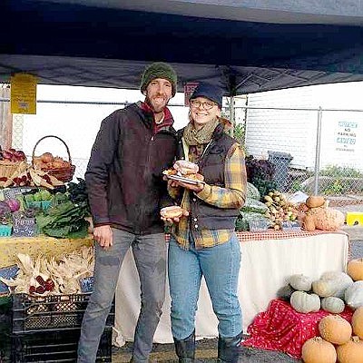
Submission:
<svg viewBox="0 0 363 363">
<path fill-rule="evenodd" d="M 147 362 L 162 315 L 166 244 L 160 209 L 170 205 L 162 171 L 172 165 L 176 132 L 166 107 L 177 75 L 154 63 L 142 74 L 145 101 L 132 103 L 103 120 L 85 173 L 93 215 L 93 294 L 84 313 L 78 362 L 94 362 L 111 309 L 119 271 L 132 247 L 141 280 L 141 310 L 132 361 Z"/>
</svg>

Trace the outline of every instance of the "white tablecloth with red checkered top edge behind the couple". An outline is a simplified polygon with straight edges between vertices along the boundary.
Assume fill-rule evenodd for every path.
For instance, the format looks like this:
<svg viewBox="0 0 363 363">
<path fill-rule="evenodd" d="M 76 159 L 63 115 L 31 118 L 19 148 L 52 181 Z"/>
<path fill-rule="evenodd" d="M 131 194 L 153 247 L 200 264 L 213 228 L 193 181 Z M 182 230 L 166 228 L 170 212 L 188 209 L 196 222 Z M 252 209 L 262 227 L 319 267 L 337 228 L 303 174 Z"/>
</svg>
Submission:
<svg viewBox="0 0 363 363">
<path fill-rule="evenodd" d="M 303 273 L 313 280 L 327 270 L 344 271 L 348 262 L 348 234 L 342 231 L 267 231 L 239 232 L 241 268 L 239 297 L 243 330 L 247 332 L 258 313 L 268 308 L 292 274 Z M 185 287 L 188 293 L 188 287 Z M 131 341 L 140 309 L 140 285 L 131 250 L 128 251 L 116 290 L 114 343 Z M 172 343 L 169 286 L 162 319 L 154 342 Z M 211 309 L 211 299 L 204 280 L 196 316 L 197 338 L 218 336 L 218 320 Z"/>
</svg>

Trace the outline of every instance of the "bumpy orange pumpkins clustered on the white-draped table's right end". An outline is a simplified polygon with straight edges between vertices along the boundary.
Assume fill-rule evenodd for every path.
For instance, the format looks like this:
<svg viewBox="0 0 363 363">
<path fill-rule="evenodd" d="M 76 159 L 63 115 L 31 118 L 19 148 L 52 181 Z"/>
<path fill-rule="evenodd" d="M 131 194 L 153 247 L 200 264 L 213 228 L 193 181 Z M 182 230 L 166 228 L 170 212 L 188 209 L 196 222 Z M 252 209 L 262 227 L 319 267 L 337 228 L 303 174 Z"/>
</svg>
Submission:
<svg viewBox="0 0 363 363">
<path fill-rule="evenodd" d="M 299 205 L 303 230 L 338 231 L 344 225 L 344 213 L 329 208 L 326 204 L 324 197 L 310 195 L 305 203 Z"/>
</svg>

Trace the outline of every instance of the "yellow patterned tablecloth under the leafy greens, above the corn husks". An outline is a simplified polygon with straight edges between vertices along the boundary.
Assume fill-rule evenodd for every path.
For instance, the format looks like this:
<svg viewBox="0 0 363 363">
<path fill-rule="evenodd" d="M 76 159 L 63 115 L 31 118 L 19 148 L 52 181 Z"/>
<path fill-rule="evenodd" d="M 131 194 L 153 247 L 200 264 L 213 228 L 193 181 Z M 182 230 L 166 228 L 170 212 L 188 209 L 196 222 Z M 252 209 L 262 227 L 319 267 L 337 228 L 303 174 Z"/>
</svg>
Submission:
<svg viewBox="0 0 363 363">
<path fill-rule="evenodd" d="M 32 258 L 38 255 L 54 257 L 78 250 L 82 246 L 91 246 L 92 235 L 84 239 L 55 239 L 48 236 L 37 237 L 1 237 L 0 238 L 0 267 L 14 265 L 16 255 L 25 253 Z"/>
</svg>

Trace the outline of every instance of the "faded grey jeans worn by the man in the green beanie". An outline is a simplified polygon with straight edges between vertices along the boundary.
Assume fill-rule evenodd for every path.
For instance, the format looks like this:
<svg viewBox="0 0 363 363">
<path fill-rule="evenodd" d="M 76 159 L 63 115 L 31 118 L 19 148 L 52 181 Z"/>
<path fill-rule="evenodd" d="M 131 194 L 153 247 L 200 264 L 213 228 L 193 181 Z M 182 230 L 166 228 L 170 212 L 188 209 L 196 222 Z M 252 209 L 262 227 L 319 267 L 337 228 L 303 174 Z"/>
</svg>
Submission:
<svg viewBox="0 0 363 363">
<path fill-rule="evenodd" d="M 96 359 L 123 258 L 131 246 L 141 281 L 142 300 L 134 334 L 132 358 L 134 362 L 148 361 L 165 298 L 165 235 L 157 233 L 139 236 L 113 229 L 111 248 L 103 249 L 96 244 L 93 293 L 83 317 L 78 362 L 93 363 Z"/>
</svg>

